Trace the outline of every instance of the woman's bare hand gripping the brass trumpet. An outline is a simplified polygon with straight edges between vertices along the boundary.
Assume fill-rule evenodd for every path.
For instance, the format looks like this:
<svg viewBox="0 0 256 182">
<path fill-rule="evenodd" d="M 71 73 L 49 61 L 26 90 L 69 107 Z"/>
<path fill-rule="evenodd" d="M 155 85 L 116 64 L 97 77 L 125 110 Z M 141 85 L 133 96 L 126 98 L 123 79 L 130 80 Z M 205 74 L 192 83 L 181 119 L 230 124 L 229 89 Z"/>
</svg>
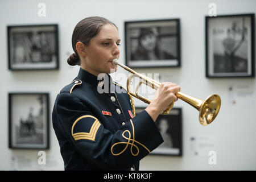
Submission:
<svg viewBox="0 0 256 182">
<path fill-rule="evenodd" d="M 160 84 L 154 94 L 154 100 L 145 109 L 154 121 L 172 102 L 178 100 L 175 95 L 177 92 L 180 92 L 180 86 L 172 82 L 163 82 Z"/>
</svg>

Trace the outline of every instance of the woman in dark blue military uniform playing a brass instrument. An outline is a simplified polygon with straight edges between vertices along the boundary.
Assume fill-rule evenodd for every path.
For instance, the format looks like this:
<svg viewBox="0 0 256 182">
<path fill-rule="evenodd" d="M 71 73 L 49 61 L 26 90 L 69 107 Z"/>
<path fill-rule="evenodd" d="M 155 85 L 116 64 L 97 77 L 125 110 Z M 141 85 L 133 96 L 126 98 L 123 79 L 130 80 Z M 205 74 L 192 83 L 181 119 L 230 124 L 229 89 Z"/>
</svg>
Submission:
<svg viewBox="0 0 256 182">
<path fill-rule="evenodd" d="M 57 95 L 52 112 L 65 170 L 138 170 L 139 160 L 163 142 L 155 120 L 177 101 L 180 86 L 161 84 L 135 117 L 127 93 L 98 92 L 98 87 L 123 89 L 109 75 L 117 71 L 112 61 L 119 58 L 120 43 L 117 26 L 98 16 L 82 19 L 73 30 L 75 53 L 68 64 L 81 68 Z"/>
</svg>

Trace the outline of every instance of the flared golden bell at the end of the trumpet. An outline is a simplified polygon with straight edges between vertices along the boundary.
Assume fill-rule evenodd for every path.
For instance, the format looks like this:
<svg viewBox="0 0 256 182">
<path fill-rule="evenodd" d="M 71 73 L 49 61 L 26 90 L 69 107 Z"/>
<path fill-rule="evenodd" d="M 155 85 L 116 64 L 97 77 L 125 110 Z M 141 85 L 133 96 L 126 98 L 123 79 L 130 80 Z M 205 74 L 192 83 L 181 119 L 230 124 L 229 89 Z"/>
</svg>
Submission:
<svg viewBox="0 0 256 182">
<path fill-rule="evenodd" d="M 216 118 L 220 111 L 221 98 L 217 94 L 212 94 L 202 103 L 199 110 L 199 121 L 201 125 L 209 125 Z"/>
</svg>

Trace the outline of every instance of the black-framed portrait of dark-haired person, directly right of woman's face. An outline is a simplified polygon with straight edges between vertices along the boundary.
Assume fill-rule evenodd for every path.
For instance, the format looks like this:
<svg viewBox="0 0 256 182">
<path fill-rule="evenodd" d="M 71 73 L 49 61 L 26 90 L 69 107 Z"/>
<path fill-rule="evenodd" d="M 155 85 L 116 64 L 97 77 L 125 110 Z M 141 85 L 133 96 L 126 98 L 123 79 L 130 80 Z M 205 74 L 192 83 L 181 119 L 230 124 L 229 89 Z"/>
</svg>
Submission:
<svg viewBox="0 0 256 182">
<path fill-rule="evenodd" d="M 126 65 L 180 67 L 180 20 L 125 22 Z"/>
</svg>

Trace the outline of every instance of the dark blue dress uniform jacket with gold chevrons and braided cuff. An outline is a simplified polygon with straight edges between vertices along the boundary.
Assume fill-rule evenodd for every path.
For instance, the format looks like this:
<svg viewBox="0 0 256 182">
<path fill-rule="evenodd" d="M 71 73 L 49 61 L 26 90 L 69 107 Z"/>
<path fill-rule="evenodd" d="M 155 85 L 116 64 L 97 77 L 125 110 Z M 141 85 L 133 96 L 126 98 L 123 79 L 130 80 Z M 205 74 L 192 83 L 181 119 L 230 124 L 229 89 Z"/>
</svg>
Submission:
<svg viewBox="0 0 256 182">
<path fill-rule="evenodd" d="M 138 170 L 163 138 L 145 110 L 135 117 L 131 110 L 126 90 L 108 74 L 99 81 L 80 68 L 52 112 L 65 170 Z"/>
</svg>

